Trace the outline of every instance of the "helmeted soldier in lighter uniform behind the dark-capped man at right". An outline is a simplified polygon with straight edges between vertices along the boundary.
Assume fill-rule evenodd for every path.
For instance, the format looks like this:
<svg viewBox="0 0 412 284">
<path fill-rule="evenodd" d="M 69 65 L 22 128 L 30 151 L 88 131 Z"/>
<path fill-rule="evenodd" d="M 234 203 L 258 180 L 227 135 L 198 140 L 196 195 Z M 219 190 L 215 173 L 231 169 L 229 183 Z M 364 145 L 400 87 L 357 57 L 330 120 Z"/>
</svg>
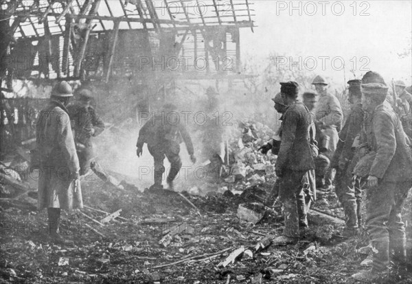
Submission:
<svg viewBox="0 0 412 284">
<path fill-rule="evenodd" d="M 325 152 L 325 155 L 331 159 L 339 141 L 338 131 L 341 127 L 343 118 L 341 103 L 336 97 L 328 93 L 326 89 L 328 83 L 326 83 L 321 76 L 317 75 L 314 78 L 312 85 L 314 85 L 314 88 L 319 95 L 314 122 L 317 124 L 317 127 L 321 132 L 325 134 L 325 137 L 328 137 L 328 143 L 326 145 L 327 151 Z M 319 143 L 320 142 L 321 141 L 319 141 Z M 322 185 L 319 186 L 322 187 Z M 319 186 L 317 185 L 317 187 Z M 328 190 L 330 187 L 332 187 L 332 170 L 328 169 L 325 173 L 325 185 L 323 188 Z"/>
</svg>

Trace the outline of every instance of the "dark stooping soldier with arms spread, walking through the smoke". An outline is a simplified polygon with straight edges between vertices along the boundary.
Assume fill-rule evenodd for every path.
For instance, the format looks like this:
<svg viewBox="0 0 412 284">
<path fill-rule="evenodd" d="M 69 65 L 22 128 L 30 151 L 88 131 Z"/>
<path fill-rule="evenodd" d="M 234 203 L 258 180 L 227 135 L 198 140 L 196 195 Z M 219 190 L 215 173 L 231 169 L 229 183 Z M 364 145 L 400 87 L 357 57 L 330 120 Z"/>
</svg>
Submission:
<svg viewBox="0 0 412 284">
<path fill-rule="evenodd" d="M 152 117 L 139 131 L 136 143 L 136 154 L 141 156 L 144 143 L 148 144 L 148 150 L 155 160 L 155 184 L 150 189 L 163 189 L 162 176 L 165 171 L 163 160 L 165 156 L 170 162 L 170 172 L 167 178 L 168 186 L 174 189 L 173 180 L 182 167 L 179 156 L 180 143 L 185 141 L 187 152 L 190 154 L 192 163 L 196 163 L 192 139 L 181 122 L 179 114 L 176 113 L 174 104 L 165 104 L 161 109 L 159 117 Z"/>
</svg>

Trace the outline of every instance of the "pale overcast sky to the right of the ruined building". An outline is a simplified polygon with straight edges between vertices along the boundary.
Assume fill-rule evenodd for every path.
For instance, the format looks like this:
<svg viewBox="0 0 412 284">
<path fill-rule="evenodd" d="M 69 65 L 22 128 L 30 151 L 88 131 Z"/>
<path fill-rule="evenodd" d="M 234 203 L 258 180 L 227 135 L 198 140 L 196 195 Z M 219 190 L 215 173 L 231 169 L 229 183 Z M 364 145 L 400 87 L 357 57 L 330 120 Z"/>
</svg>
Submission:
<svg viewBox="0 0 412 284">
<path fill-rule="evenodd" d="M 301 56 L 302 64 L 307 63 L 303 69 L 339 81 L 343 61 L 347 80 L 353 78 L 349 70 L 354 68 L 358 77 L 370 69 L 387 80 L 400 78 L 411 84 L 410 51 L 403 59 L 398 53 L 411 49 L 412 1 L 293 1 L 295 10 L 291 1 L 253 2 L 258 27 L 254 33 L 242 29 L 242 58 L 275 52 L 299 61 Z M 290 59 L 279 62 L 289 64 Z"/>
</svg>

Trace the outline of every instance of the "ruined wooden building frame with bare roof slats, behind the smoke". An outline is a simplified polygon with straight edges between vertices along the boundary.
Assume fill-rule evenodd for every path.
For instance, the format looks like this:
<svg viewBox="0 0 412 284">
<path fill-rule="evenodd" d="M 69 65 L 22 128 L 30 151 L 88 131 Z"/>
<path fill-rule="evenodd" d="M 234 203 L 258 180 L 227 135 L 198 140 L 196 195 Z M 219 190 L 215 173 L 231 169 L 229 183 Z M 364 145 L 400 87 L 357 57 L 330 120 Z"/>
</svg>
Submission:
<svg viewBox="0 0 412 284">
<path fill-rule="evenodd" d="M 253 32 L 251 0 L 2 0 L 0 4 L 1 91 L 18 113 L 14 119 L 30 116 L 35 112 L 28 110 L 42 104 L 16 98 L 16 80 L 41 85 L 43 98 L 58 80 L 79 82 L 94 91 L 98 103 L 108 101 L 122 110 L 117 113 L 128 113 L 124 99 L 131 93 L 137 98 L 133 104 L 146 109 L 150 100 L 173 96 L 178 82 L 218 88 L 222 82 L 231 85 L 247 78 L 241 72 L 239 31 L 247 27 Z M 114 114 L 110 120 L 120 119 Z M 30 128 L 34 120 L 21 117 L 14 124 Z M 12 139 L 17 144 L 34 135 L 33 129 L 20 128 L 23 134 Z"/>
</svg>

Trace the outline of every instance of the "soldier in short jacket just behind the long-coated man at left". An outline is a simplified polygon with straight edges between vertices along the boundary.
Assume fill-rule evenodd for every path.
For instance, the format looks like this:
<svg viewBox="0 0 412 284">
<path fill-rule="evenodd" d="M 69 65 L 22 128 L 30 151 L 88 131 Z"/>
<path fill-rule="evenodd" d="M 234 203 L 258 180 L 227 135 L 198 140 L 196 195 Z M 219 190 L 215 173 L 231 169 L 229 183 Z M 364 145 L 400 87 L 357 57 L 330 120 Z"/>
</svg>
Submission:
<svg viewBox="0 0 412 284">
<path fill-rule="evenodd" d="M 84 176 L 93 161 L 93 144 L 91 137 L 96 137 L 104 130 L 104 122 L 90 105 L 93 99 L 91 92 L 83 89 L 79 93 L 78 102 L 67 107 L 73 123 L 74 141 L 80 163 L 80 176 Z"/>
</svg>

